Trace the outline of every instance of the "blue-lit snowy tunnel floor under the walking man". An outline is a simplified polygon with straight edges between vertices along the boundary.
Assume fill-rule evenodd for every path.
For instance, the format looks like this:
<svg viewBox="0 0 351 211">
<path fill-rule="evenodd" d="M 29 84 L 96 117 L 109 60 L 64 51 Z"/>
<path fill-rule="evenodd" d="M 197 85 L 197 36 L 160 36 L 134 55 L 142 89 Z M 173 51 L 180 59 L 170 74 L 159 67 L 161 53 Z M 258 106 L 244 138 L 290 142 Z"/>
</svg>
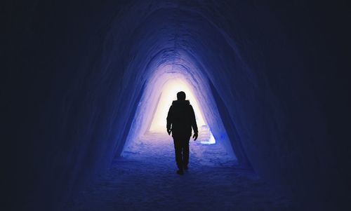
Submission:
<svg viewBox="0 0 351 211">
<path fill-rule="evenodd" d="M 190 140 L 189 170 L 176 174 L 173 140 L 151 134 L 130 144 L 64 210 L 294 210 L 221 144 Z"/>
</svg>

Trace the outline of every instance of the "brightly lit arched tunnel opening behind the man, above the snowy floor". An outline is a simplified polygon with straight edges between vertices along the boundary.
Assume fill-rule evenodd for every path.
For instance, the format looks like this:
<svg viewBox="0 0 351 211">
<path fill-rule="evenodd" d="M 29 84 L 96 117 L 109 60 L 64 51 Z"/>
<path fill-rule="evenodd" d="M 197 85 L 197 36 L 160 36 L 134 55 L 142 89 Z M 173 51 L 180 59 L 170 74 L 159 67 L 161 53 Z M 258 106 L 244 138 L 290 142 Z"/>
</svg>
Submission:
<svg viewBox="0 0 351 211">
<path fill-rule="evenodd" d="M 159 142 L 165 140 L 168 109 L 173 100 L 176 100 L 176 94 L 183 90 L 194 108 L 199 125 L 198 141 L 201 144 L 216 144 L 217 139 L 226 154 L 237 160 L 219 117 L 208 80 L 199 71 L 192 62 L 187 62 L 178 55 L 177 59 L 173 58 L 172 64 L 161 64 L 152 72 L 152 76 L 145 83 L 143 97 L 138 102 L 124 151 L 136 140 L 147 139 L 150 134 L 153 134 L 153 139 L 159 137 Z M 167 138 L 166 140 L 169 142 Z"/>
</svg>

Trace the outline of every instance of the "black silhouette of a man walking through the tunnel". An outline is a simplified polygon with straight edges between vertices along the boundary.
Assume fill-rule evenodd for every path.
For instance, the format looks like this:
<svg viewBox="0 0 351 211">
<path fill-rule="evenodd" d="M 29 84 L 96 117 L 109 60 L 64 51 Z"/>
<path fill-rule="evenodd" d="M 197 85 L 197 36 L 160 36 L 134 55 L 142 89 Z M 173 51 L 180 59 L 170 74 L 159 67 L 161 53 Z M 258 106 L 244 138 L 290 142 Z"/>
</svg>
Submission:
<svg viewBox="0 0 351 211">
<path fill-rule="evenodd" d="M 187 170 L 189 163 L 189 140 L 194 130 L 194 140 L 197 139 L 197 121 L 194 109 L 189 100 L 185 100 L 185 93 L 177 93 L 177 99 L 173 101 L 167 116 L 167 132 L 173 137 L 174 149 L 176 151 L 177 173 L 183 175 L 183 169 Z"/>
</svg>

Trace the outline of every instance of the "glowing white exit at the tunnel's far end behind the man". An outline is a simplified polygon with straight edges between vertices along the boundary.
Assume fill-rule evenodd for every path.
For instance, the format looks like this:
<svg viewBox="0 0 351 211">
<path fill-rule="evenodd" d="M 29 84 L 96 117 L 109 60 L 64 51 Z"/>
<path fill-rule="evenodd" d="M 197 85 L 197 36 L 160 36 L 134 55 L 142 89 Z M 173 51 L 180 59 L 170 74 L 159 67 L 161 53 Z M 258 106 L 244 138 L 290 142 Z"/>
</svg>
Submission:
<svg viewBox="0 0 351 211">
<path fill-rule="evenodd" d="M 199 141 L 201 144 L 216 143 L 210 128 L 208 128 L 208 125 L 204 120 L 201 108 L 199 107 L 199 102 L 197 101 L 197 98 L 195 97 L 192 88 L 187 83 L 186 79 L 182 79 L 180 77 L 168 79 L 160 91 L 161 94 L 157 102 L 157 107 L 154 110 L 152 122 L 149 128 L 150 132 L 166 131 L 166 117 L 168 114 L 168 109 L 171 107 L 173 100 L 177 100 L 177 93 L 183 91 L 186 94 L 186 100 L 190 100 L 190 104 L 194 108 L 195 118 L 199 128 Z"/>
</svg>

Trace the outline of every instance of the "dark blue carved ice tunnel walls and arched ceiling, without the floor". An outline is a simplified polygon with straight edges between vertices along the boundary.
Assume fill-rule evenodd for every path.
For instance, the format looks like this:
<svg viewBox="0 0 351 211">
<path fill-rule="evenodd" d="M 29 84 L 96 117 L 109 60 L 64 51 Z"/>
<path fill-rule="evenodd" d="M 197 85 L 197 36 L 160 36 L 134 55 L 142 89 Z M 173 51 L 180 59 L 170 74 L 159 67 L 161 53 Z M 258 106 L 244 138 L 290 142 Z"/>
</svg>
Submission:
<svg viewBox="0 0 351 211">
<path fill-rule="evenodd" d="M 298 210 L 343 210 L 350 13 L 314 3 L 6 1 L 6 210 L 60 210 L 128 139 L 159 127 L 153 109 L 172 80 L 240 168 Z"/>
</svg>

